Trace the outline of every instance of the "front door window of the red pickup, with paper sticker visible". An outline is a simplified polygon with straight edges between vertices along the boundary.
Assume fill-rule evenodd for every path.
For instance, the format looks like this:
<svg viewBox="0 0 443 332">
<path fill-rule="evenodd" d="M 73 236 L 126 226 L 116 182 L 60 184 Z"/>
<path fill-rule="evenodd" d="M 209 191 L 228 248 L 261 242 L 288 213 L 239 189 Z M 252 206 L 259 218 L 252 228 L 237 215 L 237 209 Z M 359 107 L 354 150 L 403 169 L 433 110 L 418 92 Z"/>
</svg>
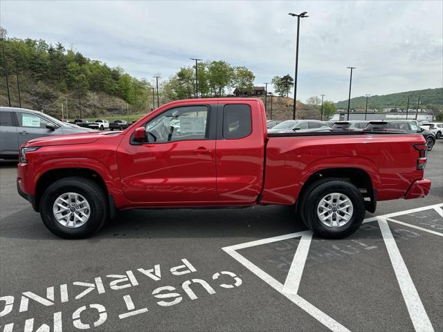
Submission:
<svg viewBox="0 0 443 332">
<path fill-rule="evenodd" d="M 177 107 L 161 113 L 146 124 L 148 142 L 204 140 L 208 124 L 208 107 Z"/>
</svg>

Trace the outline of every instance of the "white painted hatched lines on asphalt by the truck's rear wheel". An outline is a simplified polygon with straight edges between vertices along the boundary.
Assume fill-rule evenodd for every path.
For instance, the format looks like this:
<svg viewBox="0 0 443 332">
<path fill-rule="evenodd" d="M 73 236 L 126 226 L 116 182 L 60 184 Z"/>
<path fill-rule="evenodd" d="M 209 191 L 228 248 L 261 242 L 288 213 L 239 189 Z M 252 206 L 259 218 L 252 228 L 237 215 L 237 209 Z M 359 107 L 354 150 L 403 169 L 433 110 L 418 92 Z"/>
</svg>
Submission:
<svg viewBox="0 0 443 332">
<path fill-rule="evenodd" d="M 385 214 L 383 216 L 373 216 L 363 221 L 363 223 L 378 221 L 383 241 L 386 245 L 386 249 L 388 250 L 388 255 L 390 257 L 392 268 L 394 269 L 401 294 L 403 295 L 404 301 L 406 303 L 406 308 L 408 309 L 408 313 L 413 322 L 415 330 L 420 332 L 434 331 L 433 326 L 424 309 L 422 300 L 417 293 L 417 289 L 415 288 L 413 280 L 410 277 L 408 268 L 404 263 L 403 257 L 401 257 L 401 253 L 399 252 L 397 243 L 395 242 L 394 237 L 392 237 L 392 232 L 390 231 L 388 221 L 399 223 L 401 225 L 406 225 L 408 227 L 416 228 L 418 230 L 429 232 L 438 236 L 443 236 L 443 234 L 440 232 L 435 232 L 433 230 L 428 230 L 426 228 L 421 228 L 416 225 L 410 225 L 408 223 L 392 219 L 392 217 L 395 216 L 432 209 L 437 211 L 437 213 L 443 217 L 443 211 L 440 209 L 442 206 L 443 204 L 428 205 L 421 208 Z M 300 286 L 303 270 L 305 268 L 305 262 L 309 253 L 309 246 L 311 244 L 312 235 L 313 234 L 310 230 L 306 230 L 302 232 L 284 234 L 278 237 L 270 237 L 268 239 L 260 239 L 246 243 L 239 243 L 234 246 L 224 247 L 222 249 L 226 253 L 228 253 L 228 255 L 237 260 L 240 264 L 248 268 L 248 270 L 251 270 L 251 272 L 257 275 L 257 277 L 260 277 L 260 279 L 266 282 L 266 284 L 269 284 L 269 286 L 274 288 L 275 291 L 278 291 L 280 294 L 287 297 L 289 300 L 291 300 L 291 302 L 302 308 L 302 310 L 309 313 L 309 315 L 314 317 L 316 320 L 318 320 L 318 322 L 322 323 L 327 328 L 331 329 L 332 331 L 350 331 L 345 328 L 345 326 L 336 322 L 336 320 L 334 320 L 332 317 L 329 317 L 329 315 L 327 315 L 323 311 L 320 311 L 320 309 L 316 308 L 316 306 L 298 295 L 298 287 Z M 237 250 L 241 250 L 244 248 L 260 246 L 262 244 L 293 239 L 296 237 L 300 237 L 300 243 L 298 244 L 296 253 L 293 257 L 293 261 L 291 267 L 289 268 L 289 273 L 284 282 L 284 285 L 237 252 Z"/>
</svg>

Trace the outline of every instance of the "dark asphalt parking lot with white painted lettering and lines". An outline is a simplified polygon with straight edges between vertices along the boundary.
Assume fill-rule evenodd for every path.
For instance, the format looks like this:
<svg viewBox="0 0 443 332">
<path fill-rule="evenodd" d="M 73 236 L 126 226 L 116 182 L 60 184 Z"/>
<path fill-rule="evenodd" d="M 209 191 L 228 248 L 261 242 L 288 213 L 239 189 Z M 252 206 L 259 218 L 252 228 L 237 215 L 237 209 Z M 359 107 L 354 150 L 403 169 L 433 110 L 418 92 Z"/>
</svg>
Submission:
<svg viewBox="0 0 443 332">
<path fill-rule="evenodd" d="M 62 240 L 0 167 L 0 331 L 443 331 L 443 140 L 426 199 L 336 241 L 281 206 L 132 210 Z"/>
</svg>

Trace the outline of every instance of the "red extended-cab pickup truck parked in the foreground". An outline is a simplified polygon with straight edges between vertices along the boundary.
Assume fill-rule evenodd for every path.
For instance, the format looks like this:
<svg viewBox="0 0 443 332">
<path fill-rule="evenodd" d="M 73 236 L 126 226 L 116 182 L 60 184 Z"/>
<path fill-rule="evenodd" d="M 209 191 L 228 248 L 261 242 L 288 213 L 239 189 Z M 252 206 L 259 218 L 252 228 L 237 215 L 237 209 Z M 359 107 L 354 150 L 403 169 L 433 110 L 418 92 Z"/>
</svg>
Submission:
<svg viewBox="0 0 443 332">
<path fill-rule="evenodd" d="M 422 135 L 324 130 L 268 134 L 257 99 L 180 100 L 125 131 L 28 141 L 17 189 L 65 238 L 116 210 L 257 204 L 294 205 L 315 234 L 340 238 L 377 201 L 428 194 Z"/>
</svg>

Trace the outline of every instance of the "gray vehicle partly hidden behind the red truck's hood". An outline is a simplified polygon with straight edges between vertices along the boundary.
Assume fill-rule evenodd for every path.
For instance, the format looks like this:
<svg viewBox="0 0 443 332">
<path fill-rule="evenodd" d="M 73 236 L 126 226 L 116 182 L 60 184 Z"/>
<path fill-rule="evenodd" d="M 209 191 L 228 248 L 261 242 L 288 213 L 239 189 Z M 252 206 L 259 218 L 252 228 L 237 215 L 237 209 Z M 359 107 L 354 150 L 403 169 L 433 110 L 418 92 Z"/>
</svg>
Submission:
<svg viewBox="0 0 443 332">
<path fill-rule="evenodd" d="M 42 112 L 0 107 L 0 159 L 17 159 L 20 145 L 33 138 L 91 131 L 94 130 L 64 123 Z"/>
</svg>

